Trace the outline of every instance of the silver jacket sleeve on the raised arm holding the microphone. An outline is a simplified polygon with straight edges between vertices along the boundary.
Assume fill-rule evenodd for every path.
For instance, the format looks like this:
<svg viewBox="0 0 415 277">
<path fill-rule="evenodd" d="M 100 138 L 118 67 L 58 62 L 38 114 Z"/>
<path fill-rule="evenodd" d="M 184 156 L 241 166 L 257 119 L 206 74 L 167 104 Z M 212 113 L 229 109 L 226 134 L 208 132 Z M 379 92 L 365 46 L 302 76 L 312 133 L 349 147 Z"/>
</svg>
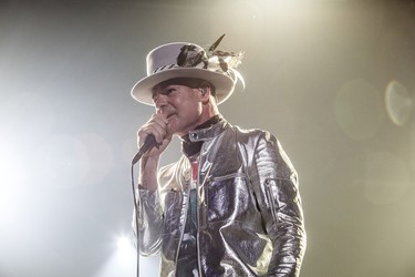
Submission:
<svg viewBox="0 0 415 277">
<path fill-rule="evenodd" d="M 157 254 L 162 246 L 163 213 L 158 191 L 137 189 L 138 228 L 134 212 L 133 229 L 143 256 Z M 138 233 L 137 233 L 138 229 Z M 138 234 L 138 237 L 137 237 Z"/>
</svg>

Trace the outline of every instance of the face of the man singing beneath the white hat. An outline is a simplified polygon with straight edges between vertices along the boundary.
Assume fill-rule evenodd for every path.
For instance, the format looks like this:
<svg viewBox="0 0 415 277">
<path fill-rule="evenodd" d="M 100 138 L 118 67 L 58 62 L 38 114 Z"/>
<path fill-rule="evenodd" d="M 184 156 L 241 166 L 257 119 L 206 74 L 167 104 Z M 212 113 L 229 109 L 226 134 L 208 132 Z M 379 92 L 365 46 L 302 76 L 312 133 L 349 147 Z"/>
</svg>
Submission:
<svg viewBox="0 0 415 277">
<path fill-rule="evenodd" d="M 167 133 L 183 136 L 203 121 L 203 100 L 198 89 L 170 84 L 156 90 L 153 101 L 156 113 L 168 121 Z"/>
</svg>

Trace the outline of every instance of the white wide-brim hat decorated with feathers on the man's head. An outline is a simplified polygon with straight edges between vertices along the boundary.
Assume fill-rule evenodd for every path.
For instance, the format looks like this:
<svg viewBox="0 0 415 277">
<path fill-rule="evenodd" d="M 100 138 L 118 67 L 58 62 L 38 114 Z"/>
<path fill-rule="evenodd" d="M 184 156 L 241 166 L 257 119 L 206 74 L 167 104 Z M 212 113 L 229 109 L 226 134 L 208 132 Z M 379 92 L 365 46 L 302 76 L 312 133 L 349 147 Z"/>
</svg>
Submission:
<svg viewBox="0 0 415 277">
<path fill-rule="evenodd" d="M 242 53 L 214 51 L 221 38 L 207 51 L 187 42 L 155 48 L 147 54 L 147 76 L 133 86 L 132 96 L 141 103 L 154 105 L 153 88 L 158 83 L 176 78 L 196 78 L 211 83 L 216 89 L 217 103 L 222 103 L 232 94 L 237 80 L 241 79 L 235 68 L 239 65 Z"/>
</svg>

